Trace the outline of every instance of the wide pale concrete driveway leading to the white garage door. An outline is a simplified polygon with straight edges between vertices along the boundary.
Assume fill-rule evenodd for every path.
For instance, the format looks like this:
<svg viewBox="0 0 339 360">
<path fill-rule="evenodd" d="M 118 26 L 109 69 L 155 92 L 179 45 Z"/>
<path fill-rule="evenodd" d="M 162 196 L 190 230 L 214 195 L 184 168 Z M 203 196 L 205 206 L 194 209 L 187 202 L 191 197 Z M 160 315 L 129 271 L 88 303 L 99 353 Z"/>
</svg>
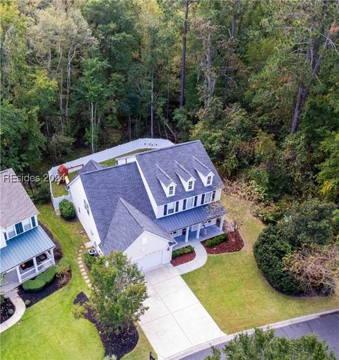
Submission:
<svg viewBox="0 0 339 360">
<path fill-rule="evenodd" d="M 145 277 L 149 309 L 139 323 L 158 359 L 225 335 L 171 264 Z"/>
</svg>

